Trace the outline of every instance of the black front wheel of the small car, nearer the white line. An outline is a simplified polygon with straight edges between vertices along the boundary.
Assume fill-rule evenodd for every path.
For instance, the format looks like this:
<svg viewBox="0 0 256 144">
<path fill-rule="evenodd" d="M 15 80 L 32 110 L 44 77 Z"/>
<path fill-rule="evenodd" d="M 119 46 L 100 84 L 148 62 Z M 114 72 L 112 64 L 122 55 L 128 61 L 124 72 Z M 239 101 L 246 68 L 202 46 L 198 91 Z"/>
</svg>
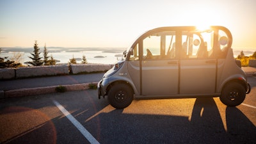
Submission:
<svg viewBox="0 0 256 144">
<path fill-rule="evenodd" d="M 131 104 L 133 93 L 130 86 L 120 83 L 112 86 L 108 92 L 108 101 L 116 109 L 124 109 Z"/>
</svg>

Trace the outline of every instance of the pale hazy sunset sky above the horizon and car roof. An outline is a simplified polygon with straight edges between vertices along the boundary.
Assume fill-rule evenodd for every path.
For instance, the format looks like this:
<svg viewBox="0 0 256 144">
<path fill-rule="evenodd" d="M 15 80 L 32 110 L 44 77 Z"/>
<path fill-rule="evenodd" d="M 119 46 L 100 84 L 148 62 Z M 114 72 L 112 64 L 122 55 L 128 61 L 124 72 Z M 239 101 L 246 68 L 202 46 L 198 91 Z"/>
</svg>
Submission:
<svg viewBox="0 0 256 144">
<path fill-rule="evenodd" d="M 128 47 L 149 29 L 214 25 L 256 47 L 256 1 L 0 0 L 0 47 Z"/>
</svg>

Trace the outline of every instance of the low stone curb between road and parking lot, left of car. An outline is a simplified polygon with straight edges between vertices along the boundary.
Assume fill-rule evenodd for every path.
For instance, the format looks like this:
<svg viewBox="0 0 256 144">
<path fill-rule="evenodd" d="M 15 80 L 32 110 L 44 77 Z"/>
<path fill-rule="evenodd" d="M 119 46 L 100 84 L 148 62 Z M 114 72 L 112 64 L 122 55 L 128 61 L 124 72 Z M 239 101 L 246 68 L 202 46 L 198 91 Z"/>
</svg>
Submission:
<svg viewBox="0 0 256 144">
<path fill-rule="evenodd" d="M 89 89 L 89 84 L 97 84 L 98 82 L 92 83 L 82 83 L 82 84 L 67 84 L 61 85 L 67 88 L 67 91 L 74 90 L 87 90 Z M 58 85 L 60 86 L 60 85 Z M 58 86 L 45 86 L 39 88 L 21 88 L 17 90 L 8 90 L 6 92 L 1 92 L 1 98 L 9 98 L 9 97 L 24 97 L 29 95 L 40 95 L 45 93 L 55 93 L 55 88 Z"/>
</svg>

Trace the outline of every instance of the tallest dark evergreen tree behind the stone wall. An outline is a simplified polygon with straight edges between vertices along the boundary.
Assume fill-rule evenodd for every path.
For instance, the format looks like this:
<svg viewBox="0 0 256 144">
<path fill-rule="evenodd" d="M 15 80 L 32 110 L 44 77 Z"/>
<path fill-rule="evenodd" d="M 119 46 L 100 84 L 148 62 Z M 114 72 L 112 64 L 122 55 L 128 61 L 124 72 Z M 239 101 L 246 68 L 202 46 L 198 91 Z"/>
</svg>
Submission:
<svg viewBox="0 0 256 144">
<path fill-rule="evenodd" d="M 34 53 L 30 53 L 30 54 L 32 55 L 32 57 L 29 56 L 29 58 L 31 58 L 31 60 L 33 60 L 33 61 L 28 61 L 29 64 L 34 65 L 34 66 L 43 65 L 44 61 L 41 60 L 42 57 L 40 57 L 40 53 L 41 53 L 41 52 L 39 52 L 39 50 L 40 50 L 40 49 L 39 49 L 39 47 L 37 46 L 37 43 L 36 43 L 36 41 L 35 41 L 34 51 L 33 51 Z"/>
</svg>

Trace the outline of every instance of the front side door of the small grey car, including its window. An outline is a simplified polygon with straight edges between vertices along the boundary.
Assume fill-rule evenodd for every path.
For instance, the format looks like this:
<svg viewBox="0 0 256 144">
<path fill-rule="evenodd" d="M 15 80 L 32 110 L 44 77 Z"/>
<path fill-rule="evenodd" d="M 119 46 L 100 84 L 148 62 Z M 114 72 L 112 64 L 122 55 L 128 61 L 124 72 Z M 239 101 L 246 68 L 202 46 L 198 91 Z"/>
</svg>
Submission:
<svg viewBox="0 0 256 144">
<path fill-rule="evenodd" d="M 142 95 L 178 93 L 179 60 L 175 58 L 175 32 L 154 33 L 141 40 Z M 171 52 L 172 51 L 172 52 Z"/>
</svg>

